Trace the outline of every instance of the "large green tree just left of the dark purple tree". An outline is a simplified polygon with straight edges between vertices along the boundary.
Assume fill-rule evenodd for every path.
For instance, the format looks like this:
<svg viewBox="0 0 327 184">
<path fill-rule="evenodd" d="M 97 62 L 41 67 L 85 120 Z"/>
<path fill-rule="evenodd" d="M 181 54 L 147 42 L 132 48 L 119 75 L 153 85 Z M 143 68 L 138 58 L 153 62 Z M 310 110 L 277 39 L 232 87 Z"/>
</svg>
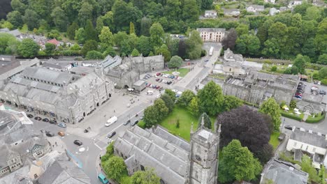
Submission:
<svg viewBox="0 0 327 184">
<path fill-rule="evenodd" d="M 223 103 L 224 96 L 221 87 L 213 81 L 208 82 L 203 89 L 198 91 L 198 106 L 201 112 L 215 116 L 218 112 L 222 112 Z"/>
</svg>

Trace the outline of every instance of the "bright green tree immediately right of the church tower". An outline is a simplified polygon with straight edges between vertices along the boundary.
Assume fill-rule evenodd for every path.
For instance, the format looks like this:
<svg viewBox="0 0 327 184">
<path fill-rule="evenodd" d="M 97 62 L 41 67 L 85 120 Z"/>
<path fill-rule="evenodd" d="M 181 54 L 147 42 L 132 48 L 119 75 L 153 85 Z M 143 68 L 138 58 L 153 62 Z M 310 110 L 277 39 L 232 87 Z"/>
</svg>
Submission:
<svg viewBox="0 0 327 184">
<path fill-rule="evenodd" d="M 242 147 L 240 141 L 233 139 L 223 148 L 222 155 L 218 174 L 221 183 L 251 181 L 260 174 L 262 169 L 260 162 L 247 147 Z"/>
</svg>

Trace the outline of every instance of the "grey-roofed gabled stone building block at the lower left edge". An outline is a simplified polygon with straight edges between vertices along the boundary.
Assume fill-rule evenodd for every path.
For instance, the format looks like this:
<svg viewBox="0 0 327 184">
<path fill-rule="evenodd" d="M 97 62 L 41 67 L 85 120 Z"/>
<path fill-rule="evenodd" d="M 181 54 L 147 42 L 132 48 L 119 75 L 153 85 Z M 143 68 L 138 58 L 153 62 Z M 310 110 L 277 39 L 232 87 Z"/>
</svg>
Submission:
<svg viewBox="0 0 327 184">
<path fill-rule="evenodd" d="M 24 112 L 0 110 L 0 178 L 51 151 L 45 135 L 32 126 Z"/>
</svg>

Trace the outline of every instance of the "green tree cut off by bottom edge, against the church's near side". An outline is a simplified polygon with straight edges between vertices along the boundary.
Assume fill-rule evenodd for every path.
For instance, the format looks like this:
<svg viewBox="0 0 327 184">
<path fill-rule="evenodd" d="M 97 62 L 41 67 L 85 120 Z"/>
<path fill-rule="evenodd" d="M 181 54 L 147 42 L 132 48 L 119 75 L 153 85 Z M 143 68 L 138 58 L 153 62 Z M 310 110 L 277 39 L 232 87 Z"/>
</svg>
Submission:
<svg viewBox="0 0 327 184">
<path fill-rule="evenodd" d="M 154 169 L 146 168 L 145 171 L 136 171 L 131 176 L 131 184 L 160 184 L 160 178 Z"/>
</svg>

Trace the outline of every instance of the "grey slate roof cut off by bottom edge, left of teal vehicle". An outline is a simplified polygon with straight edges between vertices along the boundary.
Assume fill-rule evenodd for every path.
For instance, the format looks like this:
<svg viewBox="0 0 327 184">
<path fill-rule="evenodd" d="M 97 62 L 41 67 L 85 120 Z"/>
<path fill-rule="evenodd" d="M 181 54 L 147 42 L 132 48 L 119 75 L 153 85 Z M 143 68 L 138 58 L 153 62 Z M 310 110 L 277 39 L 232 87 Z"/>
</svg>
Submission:
<svg viewBox="0 0 327 184">
<path fill-rule="evenodd" d="M 57 160 L 38 179 L 38 184 L 82 184 L 91 183 L 89 177 L 73 162 Z"/>
</svg>

